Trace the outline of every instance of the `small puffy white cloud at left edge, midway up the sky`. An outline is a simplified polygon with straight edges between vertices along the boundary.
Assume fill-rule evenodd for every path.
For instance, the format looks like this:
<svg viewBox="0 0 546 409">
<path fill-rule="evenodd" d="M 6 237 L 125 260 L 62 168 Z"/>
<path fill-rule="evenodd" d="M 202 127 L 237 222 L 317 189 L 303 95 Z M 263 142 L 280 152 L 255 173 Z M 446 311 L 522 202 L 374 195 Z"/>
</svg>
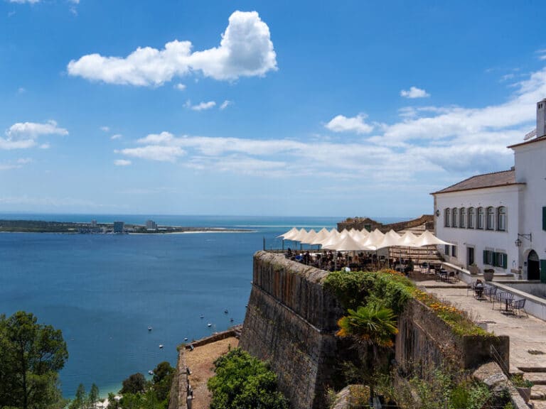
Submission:
<svg viewBox="0 0 546 409">
<path fill-rule="evenodd" d="M 36 146 L 36 139 L 43 135 L 68 135 L 68 131 L 59 128 L 57 122 L 47 121 L 45 124 L 35 122 L 18 122 L 5 132 L 6 138 L 0 138 L 0 149 L 26 149 Z"/>
</svg>

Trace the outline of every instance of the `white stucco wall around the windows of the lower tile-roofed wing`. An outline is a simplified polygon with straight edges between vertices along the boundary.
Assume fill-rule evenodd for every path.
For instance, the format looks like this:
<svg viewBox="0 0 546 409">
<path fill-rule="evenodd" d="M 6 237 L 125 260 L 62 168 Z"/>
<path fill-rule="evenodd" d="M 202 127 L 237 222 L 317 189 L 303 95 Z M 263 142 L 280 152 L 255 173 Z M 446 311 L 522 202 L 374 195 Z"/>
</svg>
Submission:
<svg viewBox="0 0 546 409">
<path fill-rule="evenodd" d="M 518 195 L 520 195 L 522 189 L 525 189 L 525 186 L 510 185 L 437 194 L 436 206 L 440 212 L 439 217 L 436 218 L 437 236 L 457 246 L 456 257 L 446 256 L 446 260 L 454 264 L 467 266 L 466 249 L 473 247 L 474 262 L 482 270 L 483 268 L 493 268 L 493 266 L 483 265 L 483 250 L 507 254 L 507 268 L 495 267 L 498 273 L 510 273 L 512 268 L 518 268 L 518 247 L 515 246 L 514 242 L 518 238 L 518 214 L 520 210 Z M 469 207 L 474 207 L 476 214 L 478 207 L 483 207 L 484 221 L 486 222 L 486 208 L 490 206 L 495 208 L 504 206 L 506 208 L 505 231 L 469 229 L 468 222 L 467 227 L 464 229 L 461 227 L 444 227 L 444 210 L 447 207 L 459 209 L 459 217 L 462 207 L 465 207 L 467 212 Z M 436 209 L 434 209 L 434 212 L 436 212 Z M 453 214 L 451 214 L 452 217 Z"/>
</svg>

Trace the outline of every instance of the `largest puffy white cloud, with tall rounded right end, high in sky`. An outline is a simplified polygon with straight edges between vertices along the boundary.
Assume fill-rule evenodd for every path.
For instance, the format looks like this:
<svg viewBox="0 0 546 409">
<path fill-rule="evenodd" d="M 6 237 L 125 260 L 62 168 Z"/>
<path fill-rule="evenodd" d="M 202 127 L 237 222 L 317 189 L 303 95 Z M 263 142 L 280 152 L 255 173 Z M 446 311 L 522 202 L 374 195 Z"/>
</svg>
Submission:
<svg viewBox="0 0 546 409">
<path fill-rule="evenodd" d="M 173 77 L 200 71 L 215 80 L 262 76 L 277 70 L 269 27 L 256 11 L 235 11 L 220 46 L 191 52 L 190 41 L 173 40 L 165 48 L 137 48 L 127 58 L 84 55 L 68 63 L 68 74 L 109 84 L 158 87 Z"/>
</svg>

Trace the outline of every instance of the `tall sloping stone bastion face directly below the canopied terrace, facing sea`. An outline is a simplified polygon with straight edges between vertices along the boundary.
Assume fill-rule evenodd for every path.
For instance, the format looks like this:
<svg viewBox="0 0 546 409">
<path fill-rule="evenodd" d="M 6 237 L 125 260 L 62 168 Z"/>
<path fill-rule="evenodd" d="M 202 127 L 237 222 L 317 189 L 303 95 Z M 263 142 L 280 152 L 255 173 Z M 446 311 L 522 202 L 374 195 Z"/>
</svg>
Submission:
<svg viewBox="0 0 546 409">
<path fill-rule="evenodd" d="M 338 354 L 342 308 L 326 292 L 326 271 L 259 251 L 240 346 L 269 360 L 292 408 L 323 408 Z"/>
</svg>

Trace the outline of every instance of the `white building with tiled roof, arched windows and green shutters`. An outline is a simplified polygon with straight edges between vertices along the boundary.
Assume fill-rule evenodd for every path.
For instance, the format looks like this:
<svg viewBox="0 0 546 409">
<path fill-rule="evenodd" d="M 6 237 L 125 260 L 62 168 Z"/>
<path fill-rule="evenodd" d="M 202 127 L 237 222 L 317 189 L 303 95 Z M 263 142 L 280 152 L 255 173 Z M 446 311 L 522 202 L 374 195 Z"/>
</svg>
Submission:
<svg viewBox="0 0 546 409">
<path fill-rule="evenodd" d="M 432 193 L 446 260 L 546 283 L 546 99 L 537 130 L 513 149 L 515 166 Z"/>
</svg>

